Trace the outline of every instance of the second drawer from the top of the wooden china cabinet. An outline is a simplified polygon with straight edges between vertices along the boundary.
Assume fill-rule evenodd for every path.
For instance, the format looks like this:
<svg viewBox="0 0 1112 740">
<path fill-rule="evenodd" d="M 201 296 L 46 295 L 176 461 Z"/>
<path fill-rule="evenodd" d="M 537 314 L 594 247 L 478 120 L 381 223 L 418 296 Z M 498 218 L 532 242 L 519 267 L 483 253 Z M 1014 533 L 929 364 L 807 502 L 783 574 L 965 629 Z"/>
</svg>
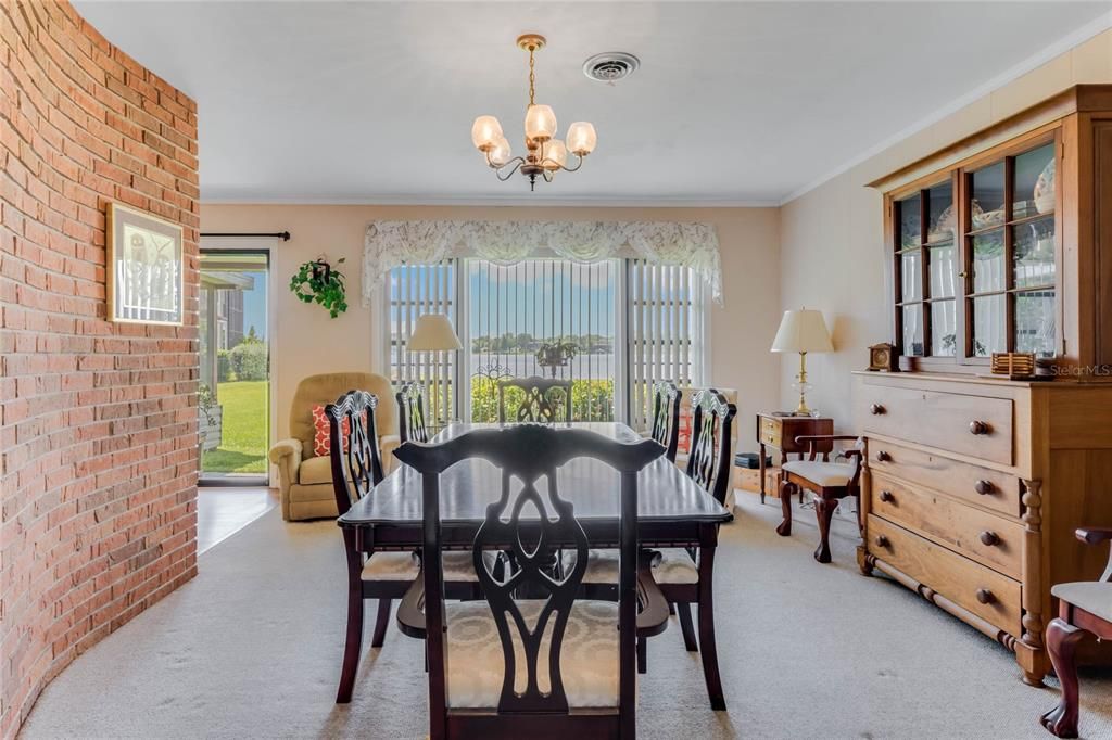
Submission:
<svg viewBox="0 0 1112 740">
<path fill-rule="evenodd" d="M 868 441 L 868 468 L 1009 517 L 1021 513 L 1020 480 L 992 468 L 878 439 Z"/>
</svg>

